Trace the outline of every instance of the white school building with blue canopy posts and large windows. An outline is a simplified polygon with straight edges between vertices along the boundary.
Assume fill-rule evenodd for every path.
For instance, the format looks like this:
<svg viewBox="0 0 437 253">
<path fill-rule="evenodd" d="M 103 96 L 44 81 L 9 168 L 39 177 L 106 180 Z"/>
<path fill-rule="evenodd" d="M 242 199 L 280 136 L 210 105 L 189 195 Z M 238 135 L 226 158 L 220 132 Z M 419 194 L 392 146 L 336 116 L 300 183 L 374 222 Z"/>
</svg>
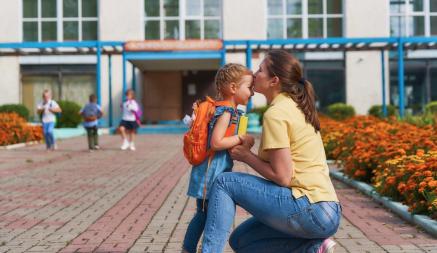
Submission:
<svg viewBox="0 0 437 253">
<path fill-rule="evenodd" d="M 193 101 L 214 94 L 214 74 L 222 64 L 238 62 L 256 71 L 265 53 L 260 41 L 279 42 L 268 49 L 284 48 L 301 60 L 320 110 L 345 102 L 365 114 L 382 103 L 383 94 L 387 103 L 401 101 L 413 112 L 437 100 L 437 51 L 429 50 L 432 43 L 403 52 L 402 76 L 396 51 L 280 44 L 287 39 L 432 38 L 437 35 L 436 0 L 0 3 L 0 104 L 23 103 L 32 112 L 44 89 L 51 89 L 56 100 L 80 104 L 97 93 L 107 112 L 105 124 L 115 125 L 123 90 L 133 88 L 146 121 L 180 120 Z M 247 41 L 254 41 L 254 47 L 239 46 Z M 227 42 L 233 43 L 226 47 Z M 399 78 L 405 84 L 401 98 Z M 252 106 L 263 104 L 256 94 Z"/>
</svg>

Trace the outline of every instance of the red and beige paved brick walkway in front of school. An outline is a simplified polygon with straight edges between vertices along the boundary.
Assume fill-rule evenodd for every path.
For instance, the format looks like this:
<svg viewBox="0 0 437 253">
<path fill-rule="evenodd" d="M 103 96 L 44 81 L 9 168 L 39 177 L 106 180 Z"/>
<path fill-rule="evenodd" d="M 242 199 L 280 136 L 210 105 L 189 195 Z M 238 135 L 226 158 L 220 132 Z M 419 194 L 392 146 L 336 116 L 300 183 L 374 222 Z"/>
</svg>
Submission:
<svg viewBox="0 0 437 253">
<path fill-rule="evenodd" d="M 104 136 L 93 153 L 85 138 L 55 152 L 0 150 L 0 252 L 180 252 L 195 211 L 181 136 L 139 136 L 136 152 L 119 144 Z M 437 253 L 436 239 L 334 183 L 344 208 L 336 252 Z M 247 217 L 238 209 L 235 225 Z"/>
</svg>

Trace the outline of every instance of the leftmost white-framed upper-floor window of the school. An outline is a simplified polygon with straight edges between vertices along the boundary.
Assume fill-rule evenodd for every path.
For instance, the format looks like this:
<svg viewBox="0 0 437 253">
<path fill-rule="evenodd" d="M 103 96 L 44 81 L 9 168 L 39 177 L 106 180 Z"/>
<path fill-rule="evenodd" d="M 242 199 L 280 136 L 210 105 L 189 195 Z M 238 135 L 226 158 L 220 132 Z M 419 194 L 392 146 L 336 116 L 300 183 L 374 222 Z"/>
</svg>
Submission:
<svg viewBox="0 0 437 253">
<path fill-rule="evenodd" d="M 23 0 L 23 41 L 97 39 L 97 0 Z"/>
</svg>

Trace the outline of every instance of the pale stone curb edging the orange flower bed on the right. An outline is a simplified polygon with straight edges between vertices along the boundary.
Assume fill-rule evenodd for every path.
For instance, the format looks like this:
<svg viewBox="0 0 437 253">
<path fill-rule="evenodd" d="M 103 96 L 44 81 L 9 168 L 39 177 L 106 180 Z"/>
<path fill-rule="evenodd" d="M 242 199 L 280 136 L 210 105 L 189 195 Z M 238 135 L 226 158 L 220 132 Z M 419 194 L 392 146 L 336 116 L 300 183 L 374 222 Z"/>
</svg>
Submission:
<svg viewBox="0 0 437 253">
<path fill-rule="evenodd" d="M 408 207 L 406 205 L 404 205 L 400 202 L 392 201 L 388 197 L 383 197 L 383 196 L 379 195 L 375 191 L 375 188 L 371 185 L 353 180 L 353 179 L 347 177 L 346 175 L 344 175 L 343 173 L 338 172 L 338 171 L 330 171 L 330 174 L 335 179 L 340 180 L 343 183 L 346 183 L 346 184 L 360 190 L 361 192 L 363 192 L 367 196 L 374 199 L 376 202 L 382 204 L 386 208 L 390 209 L 392 212 L 399 215 L 404 220 L 406 220 L 414 225 L 417 225 L 418 227 L 422 228 L 423 230 L 425 230 L 426 232 L 430 233 L 432 236 L 437 238 L 437 221 L 436 220 L 433 220 L 426 215 L 411 214 L 410 212 L 408 212 Z"/>
</svg>

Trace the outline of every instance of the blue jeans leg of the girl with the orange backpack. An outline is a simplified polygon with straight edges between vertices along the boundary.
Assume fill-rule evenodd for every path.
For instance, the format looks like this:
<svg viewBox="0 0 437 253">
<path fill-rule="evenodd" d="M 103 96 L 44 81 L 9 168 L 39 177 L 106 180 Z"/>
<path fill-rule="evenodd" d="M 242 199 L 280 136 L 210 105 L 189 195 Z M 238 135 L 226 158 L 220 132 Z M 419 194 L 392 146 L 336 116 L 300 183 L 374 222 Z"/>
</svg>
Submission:
<svg viewBox="0 0 437 253">
<path fill-rule="evenodd" d="M 184 238 L 184 250 L 189 253 L 197 252 L 197 244 L 199 244 L 200 237 L 202 236 L 203 229 L 205 227 L 208 200 L 205 201 L 205 209 L 203 209 L 203 199 L 196 199 L 197 211 L 194 214 L 188 225 L 187 232 Z"/>
</svg>

